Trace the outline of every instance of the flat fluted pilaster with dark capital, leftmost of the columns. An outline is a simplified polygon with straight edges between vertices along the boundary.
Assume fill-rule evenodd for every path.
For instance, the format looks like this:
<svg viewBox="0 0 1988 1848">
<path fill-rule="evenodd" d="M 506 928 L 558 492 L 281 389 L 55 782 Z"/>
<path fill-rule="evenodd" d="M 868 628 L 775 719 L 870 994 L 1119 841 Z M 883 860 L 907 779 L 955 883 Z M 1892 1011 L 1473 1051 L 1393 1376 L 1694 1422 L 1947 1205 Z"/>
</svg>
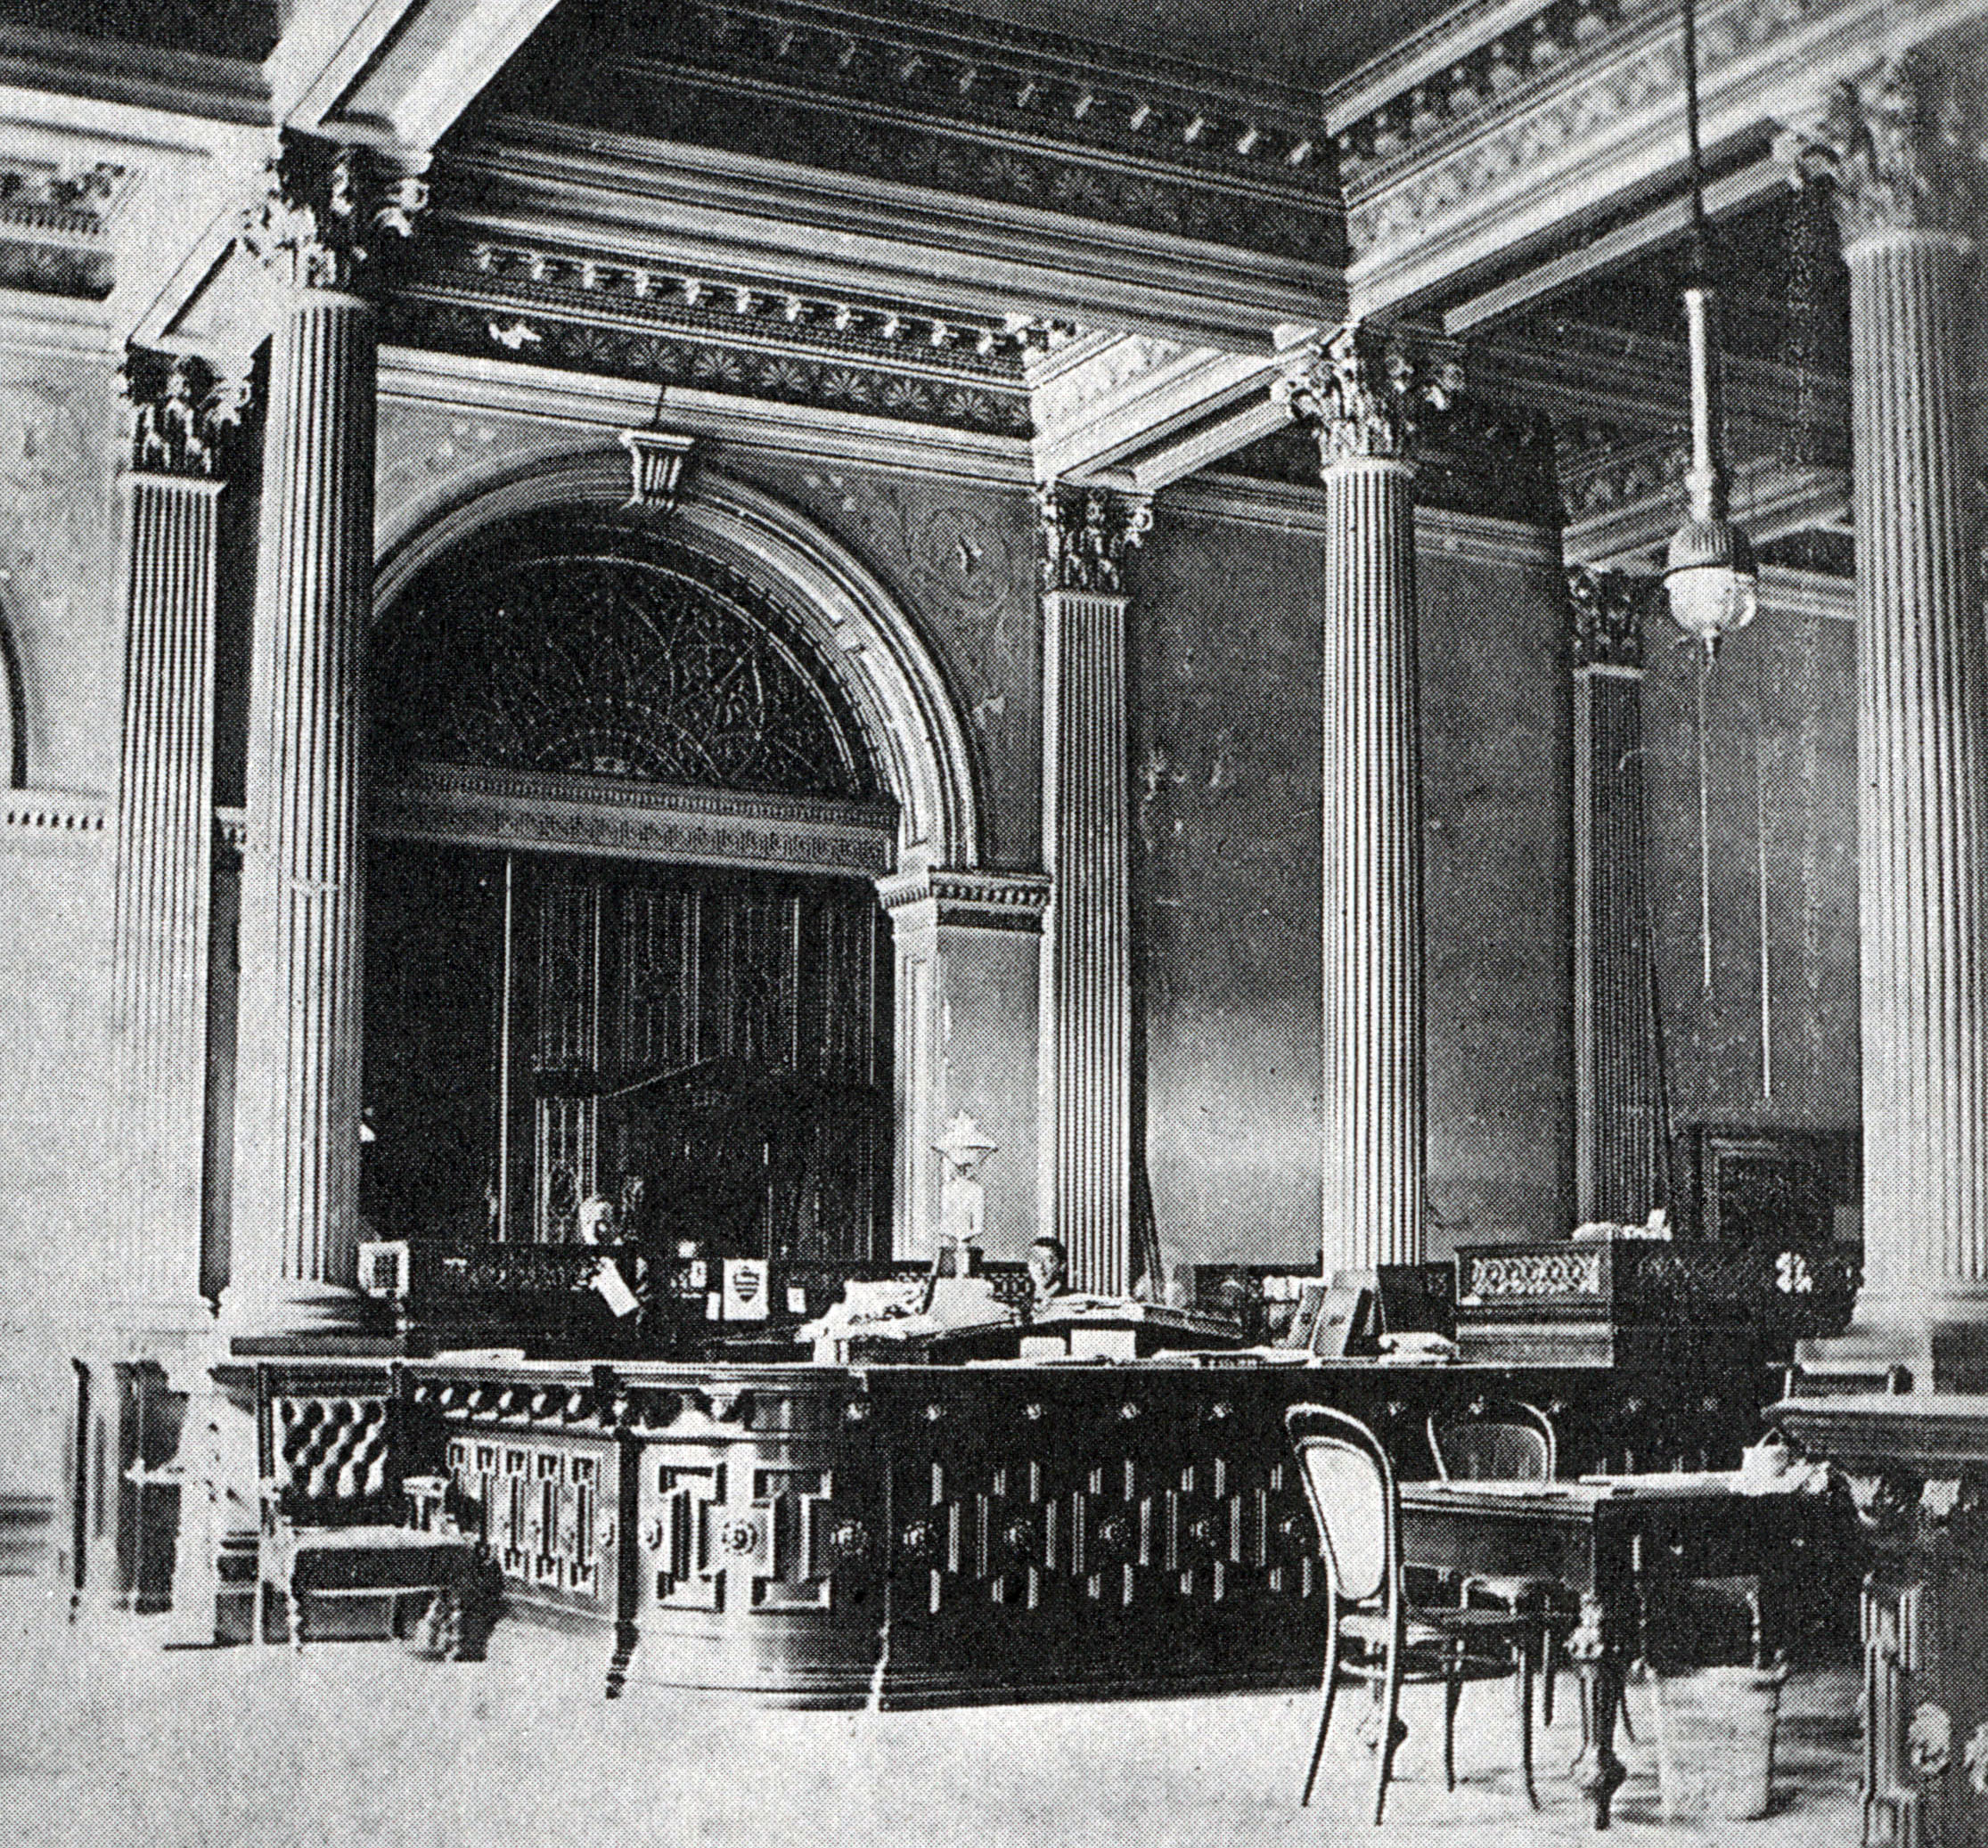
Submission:
<svg viewBox="0 0 1988 1848">
<path fill-rule="evenodd" d="M 221 445 L 239 395 L 133 354 L 111 938 L 117 1174 L 105 1286 L 131 1329 L 201 1319 Z"/>
</svg>

